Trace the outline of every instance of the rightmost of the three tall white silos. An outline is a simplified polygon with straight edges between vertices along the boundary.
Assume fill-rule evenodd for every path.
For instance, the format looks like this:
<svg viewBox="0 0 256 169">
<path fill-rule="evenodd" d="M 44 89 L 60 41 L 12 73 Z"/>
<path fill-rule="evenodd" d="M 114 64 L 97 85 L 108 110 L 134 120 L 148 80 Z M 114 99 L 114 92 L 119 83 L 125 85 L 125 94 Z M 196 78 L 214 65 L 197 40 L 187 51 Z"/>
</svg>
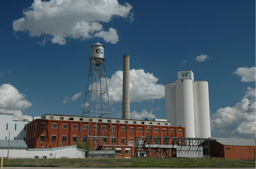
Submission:
<svg viewBox="0 0 256 169">
<path fill-rule="evenodd" d="M 194 95 L 195 137 L 200 137 L 200 138 L 211 137 L 208 82 L 194 81 L 193 95 Z"/>
</svg>

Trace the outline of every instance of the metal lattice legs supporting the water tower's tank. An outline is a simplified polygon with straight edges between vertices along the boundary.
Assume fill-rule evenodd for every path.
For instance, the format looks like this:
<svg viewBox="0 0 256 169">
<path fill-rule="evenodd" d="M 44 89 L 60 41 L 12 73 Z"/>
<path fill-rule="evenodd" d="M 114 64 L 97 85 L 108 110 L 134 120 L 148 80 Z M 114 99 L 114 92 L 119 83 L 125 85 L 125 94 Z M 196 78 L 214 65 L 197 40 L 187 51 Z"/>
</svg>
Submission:
<svg viewBox="0 0 256 169">
<path fill-rule="evenodd" d="M 103 130 L 104 115 L 106 116 L 109 115 L 110 123 L 111 123 L 111 134 L 108 134 L 107 136 L 104 136 L 104 130 Z M 89 116 L 87 136 L 81 136 L 81 129 L 82 129 L 84 116 Z M 93 131 L 90 131 L 90 123 L 92 119 L 91 117 L 95 117 L 95 120 L 96 120 L 95 133 L 93 133 Z M 100 122 L 101 130 L 102 130 L 101 136 L 97 134 L 98 119 L 101 119 L 99 120 L 101 121 Z M 115 149 L 112 120 L 111 120 L 109 99 L 108 99 L 108 87 L 107 87 L 105 62 L 103 60 L 103 64 L 96 65 L 96 64 L 93 64 L 92 61 L 90 61 L 90 69 L 89 69 L 86 93 L 84 98 L 84 108 L 83 108 L 83 114 L 81 119 L 80 130 L 79 130 L 79 140 L 80 138 L 83 138 L 85 139 L 85 142 L 87 141 L 89 142 L 89 139 L 92 139 L 93 140 L 92 142 L 95 143 L 95 148 L 97 148 L 96 147 L 97 142 L 99 141 L 99 145 L 100 145 L 100 141 L 101 141 L 102 148 L 104 150 L 104 139 L 106 139 L 107 137 L 112 137 L 112 143 Z"/>
</svg>

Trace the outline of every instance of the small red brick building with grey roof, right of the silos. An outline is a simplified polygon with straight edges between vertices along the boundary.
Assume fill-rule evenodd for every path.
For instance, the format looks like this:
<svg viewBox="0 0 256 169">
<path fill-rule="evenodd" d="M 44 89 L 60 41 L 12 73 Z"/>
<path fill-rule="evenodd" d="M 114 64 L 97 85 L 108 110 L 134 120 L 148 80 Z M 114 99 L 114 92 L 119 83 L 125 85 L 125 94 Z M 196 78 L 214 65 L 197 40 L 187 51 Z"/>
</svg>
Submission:
<svg viewBox="0 0 256 169">
<path fill-rule="evenodd" d="M 229 159 L 255 159 L 255 139 L 213 138 L 210 156 Z"/>
</svg>

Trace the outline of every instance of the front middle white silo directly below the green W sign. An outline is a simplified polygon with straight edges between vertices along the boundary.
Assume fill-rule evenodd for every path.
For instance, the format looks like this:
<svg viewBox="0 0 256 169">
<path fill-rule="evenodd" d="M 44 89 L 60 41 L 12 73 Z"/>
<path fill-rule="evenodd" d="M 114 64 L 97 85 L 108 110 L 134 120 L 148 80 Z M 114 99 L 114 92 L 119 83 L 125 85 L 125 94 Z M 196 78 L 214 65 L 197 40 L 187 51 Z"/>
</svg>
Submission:
<svg viewBox="0 0 256 169">
<path fill-rule="evenodd" d="M 186 127 L 186 137 L 195 137 L 193 80 L 175 81 L 176 125 Z"/>
</svg>

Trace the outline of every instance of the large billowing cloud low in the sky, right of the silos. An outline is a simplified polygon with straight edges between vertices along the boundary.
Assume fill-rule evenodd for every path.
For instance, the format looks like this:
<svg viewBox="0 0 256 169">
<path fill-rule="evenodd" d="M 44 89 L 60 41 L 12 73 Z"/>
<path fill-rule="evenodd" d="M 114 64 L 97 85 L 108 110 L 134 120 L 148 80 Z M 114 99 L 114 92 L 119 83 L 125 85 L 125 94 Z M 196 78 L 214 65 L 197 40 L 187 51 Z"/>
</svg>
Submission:
<svg viewBox="0 0 256 169">
<path fill-rule="evenodd" d="M 255 88 L 247 88 L 241 102 L 217 110 L 211 116 L 211 130 L 228 137 L 255 137 Z"/>
</svg>

